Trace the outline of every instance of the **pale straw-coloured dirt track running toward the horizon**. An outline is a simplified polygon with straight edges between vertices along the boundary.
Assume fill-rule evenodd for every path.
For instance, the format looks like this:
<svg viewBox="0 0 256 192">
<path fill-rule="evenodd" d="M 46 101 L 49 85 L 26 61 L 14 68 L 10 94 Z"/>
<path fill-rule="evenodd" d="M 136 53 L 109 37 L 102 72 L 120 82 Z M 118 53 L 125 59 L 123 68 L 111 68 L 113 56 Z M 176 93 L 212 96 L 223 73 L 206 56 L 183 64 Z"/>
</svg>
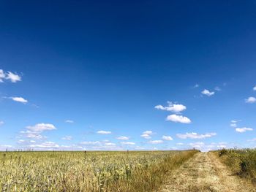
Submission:
<svg viewBox="0 0 256 192">
<path fill-rule="evenodd" d="M 159 191 L 256 191 L 256 189 L 231 174 L 213 153 L 197 153 L 192 159 L 172 172 L 166 185 Z"/>
</svg>

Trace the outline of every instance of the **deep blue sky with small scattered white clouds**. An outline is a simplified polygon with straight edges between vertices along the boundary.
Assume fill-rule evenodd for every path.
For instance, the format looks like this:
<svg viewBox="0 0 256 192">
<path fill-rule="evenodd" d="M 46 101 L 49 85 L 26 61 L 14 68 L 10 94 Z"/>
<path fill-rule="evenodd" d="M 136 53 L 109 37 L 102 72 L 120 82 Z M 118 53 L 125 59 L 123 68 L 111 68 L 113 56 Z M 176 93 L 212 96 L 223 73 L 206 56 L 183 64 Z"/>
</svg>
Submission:
<svg viewBox="0 0 256 192">
<path fill-rule="evenodd" d="M 0 150 L 256 146 L 255 1 L 1 1 Z"/>
</svg>

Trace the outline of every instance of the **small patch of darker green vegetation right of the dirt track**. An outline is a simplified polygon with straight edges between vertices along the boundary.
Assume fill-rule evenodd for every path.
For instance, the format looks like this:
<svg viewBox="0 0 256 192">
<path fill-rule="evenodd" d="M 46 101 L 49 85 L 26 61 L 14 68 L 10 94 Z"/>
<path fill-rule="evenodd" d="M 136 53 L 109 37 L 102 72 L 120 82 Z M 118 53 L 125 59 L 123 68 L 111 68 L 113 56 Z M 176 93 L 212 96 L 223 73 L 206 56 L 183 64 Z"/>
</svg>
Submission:
<svg viewBox="0 0 256 192">
<path fill-rule="evenodd" d="M 222 161 L 234 174 L 244 177 L 256 184 L 256 150 L 219 150 Z"/>
</svg>

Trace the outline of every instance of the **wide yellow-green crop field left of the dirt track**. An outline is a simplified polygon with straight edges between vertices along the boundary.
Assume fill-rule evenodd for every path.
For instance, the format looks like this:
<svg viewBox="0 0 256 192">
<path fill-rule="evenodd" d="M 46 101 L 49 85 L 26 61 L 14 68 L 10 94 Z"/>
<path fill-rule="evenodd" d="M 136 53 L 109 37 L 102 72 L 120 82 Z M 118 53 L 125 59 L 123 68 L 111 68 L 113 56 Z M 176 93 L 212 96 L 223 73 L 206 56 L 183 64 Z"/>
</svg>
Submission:
<svg viewBox="0 0 256 192">
<path fill-rule="evenodd" d="M 153 191 L 197 150 L 0 153 L 0 191 Z"/>
</svg>

